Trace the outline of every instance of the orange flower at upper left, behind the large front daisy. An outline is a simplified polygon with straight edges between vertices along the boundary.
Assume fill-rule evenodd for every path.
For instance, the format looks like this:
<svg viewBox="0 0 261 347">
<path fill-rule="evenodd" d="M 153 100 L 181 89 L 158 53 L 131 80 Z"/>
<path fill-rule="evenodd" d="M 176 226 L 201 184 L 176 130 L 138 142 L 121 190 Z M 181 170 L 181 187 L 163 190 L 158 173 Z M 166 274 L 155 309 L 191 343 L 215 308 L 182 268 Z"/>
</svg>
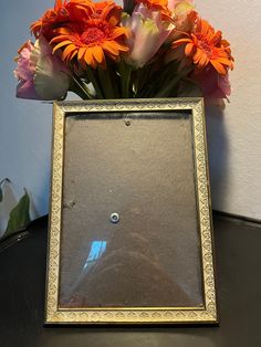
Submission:
<svg viewBox="0 0 261 347">
<path fill-rule="evenodd" d="M 84 20 L 93 13 L 91 0 L 55 0 L 53 9 L 49 9 L 41 19 L 31 24 L 31 31 L 38 38 L 41 34 L 48 40 L 55 35 L 55 29 L 69 22 Z"/>
</svg>

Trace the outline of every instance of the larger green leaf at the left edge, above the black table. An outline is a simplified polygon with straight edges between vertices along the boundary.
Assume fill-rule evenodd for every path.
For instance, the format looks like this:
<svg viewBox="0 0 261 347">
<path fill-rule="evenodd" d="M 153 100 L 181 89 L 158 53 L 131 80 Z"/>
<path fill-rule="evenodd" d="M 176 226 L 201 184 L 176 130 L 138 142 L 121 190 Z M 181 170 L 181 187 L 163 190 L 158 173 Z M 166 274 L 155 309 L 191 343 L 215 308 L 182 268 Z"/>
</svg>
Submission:
<svg viewBox="0 0 261 347">
<path fill-rule="evenodd" d="M 12 232 L 25 227 L 30 220 L 30 197 L 24 189 L 24 194 L 19 200 L 18 204 L 12 209 L 9 217 L 8 227 L 3 236 L 10 235 Z"/>
</svg>

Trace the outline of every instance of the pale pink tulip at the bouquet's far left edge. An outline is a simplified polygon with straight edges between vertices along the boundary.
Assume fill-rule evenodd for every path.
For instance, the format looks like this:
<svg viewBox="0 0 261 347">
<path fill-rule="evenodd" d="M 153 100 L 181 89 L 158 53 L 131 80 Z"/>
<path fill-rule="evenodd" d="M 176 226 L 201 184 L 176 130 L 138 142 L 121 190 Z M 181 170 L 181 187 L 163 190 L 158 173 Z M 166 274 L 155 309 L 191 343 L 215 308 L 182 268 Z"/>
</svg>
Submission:
<svg viewBox="0 0 261 347">
<path fill-rule="evenodd" d="M 44 38 L 39 38 L 35 44 L 29 40 L 18 53 L 17 97 L 50 101 L 66 95 L 70 72 L 60 57 L 52 54 Z"/>
</svg>

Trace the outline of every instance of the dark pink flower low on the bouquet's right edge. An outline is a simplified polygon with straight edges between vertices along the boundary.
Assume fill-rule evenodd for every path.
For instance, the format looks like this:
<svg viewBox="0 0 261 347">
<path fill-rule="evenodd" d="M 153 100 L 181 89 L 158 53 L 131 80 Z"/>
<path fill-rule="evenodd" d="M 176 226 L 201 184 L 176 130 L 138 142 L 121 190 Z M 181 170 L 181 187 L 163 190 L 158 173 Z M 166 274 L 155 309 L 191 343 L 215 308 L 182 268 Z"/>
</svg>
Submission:
<svg viewBox="0 0 261 347">
<path fill-rule="evenodd" d="M 195 74 L 194 80 L 199 84 L 207 98 L 227 98 L 231 93 L 228 73 L 220 75 L 212 66 Z"/>
</svg>

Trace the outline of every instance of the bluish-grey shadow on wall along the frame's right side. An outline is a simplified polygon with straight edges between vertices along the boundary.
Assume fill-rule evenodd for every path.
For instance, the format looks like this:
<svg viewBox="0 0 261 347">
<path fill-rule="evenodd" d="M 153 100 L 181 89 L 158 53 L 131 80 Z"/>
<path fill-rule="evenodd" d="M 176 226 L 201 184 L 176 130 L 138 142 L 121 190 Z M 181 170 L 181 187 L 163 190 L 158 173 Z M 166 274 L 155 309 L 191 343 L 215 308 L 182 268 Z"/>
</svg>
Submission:
<svg viewBox="0 0 261 347">
<path fill-rule="evenodd" d="M 206 115 L 212 208 L 222 211 L 226 204 L 226 182 L 229 174 L 225 106 L 206 103 Z"/>
</svg>

